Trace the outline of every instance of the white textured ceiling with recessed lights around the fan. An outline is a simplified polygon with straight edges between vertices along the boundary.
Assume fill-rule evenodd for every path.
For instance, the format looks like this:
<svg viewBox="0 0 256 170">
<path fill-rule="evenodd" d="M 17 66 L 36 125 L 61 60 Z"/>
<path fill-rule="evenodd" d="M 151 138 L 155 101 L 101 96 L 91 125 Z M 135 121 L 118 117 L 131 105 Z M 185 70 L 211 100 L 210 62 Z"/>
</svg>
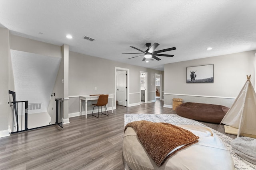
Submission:
<svg viewBox="0 0 256 170">
<path fill-rule="evenodd" d="M 255 50 L 255 7 L 256 0 L 1 0 L 0 27 L 68 44 L 70 51 L 160 70 L 166 63 Z M 174 57 L 145 63 L 121 54 L 154 42 L 160 44 L 156 50 L 176 47 L 164 53 Z"/>
</svg>

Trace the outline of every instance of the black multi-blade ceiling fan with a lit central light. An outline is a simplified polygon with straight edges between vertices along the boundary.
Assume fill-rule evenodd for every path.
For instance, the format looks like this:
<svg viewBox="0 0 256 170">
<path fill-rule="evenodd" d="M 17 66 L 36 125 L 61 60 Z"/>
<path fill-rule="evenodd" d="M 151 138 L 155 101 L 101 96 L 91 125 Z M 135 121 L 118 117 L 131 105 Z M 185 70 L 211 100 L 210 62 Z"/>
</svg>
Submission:
<svg viewBox="0 0 256 170">
<path fill-rule="evenodd" d="M 150 47 L 150 46 L 151 46 L 151 43 L 146 43 L 146 47 L 150 47 L 150 49 L 148 48 L 146 51 L 143 51 L 143 50 L 137 49 L 136 47 L 130 46 L 130 47 L 132 47 L 133 49 L 136 49 L 136 50 L 138 50 L 138 51 L 140 51 L 140 52 L 142 52 L 142 53 L 122 53 L 122 54 L 140 54 L 140 55 L 135 56 L 135 57 L 144 56 L 144 58 L 142 59 L 142 61 L 145 61 L 146 59 L 151 58 L 151 57 L 152 57 L 153 59 L 157 60 L 157 61 L 161 60 L 161 59 L 159 59 L 159 58 L 156 57 L 156 56 L 164 56 L 164 57 L 173 57 L 173 56 L 174 56 L 174 55 L 159 54 L 159 53 L 162 53 L 162 52 L 165 52 L 165 51 L 176 50 L 176 47 L 172 47 L 172 48 L 168 48 L 168 49 L 162 49 L 162 50 L 154 51 L 154 50 L 156 49 L 156 47 L 158 47 L 158 45 L 159 45 L 158 43 L 154 43 L 154 44 L 152 45 L 152 47 Z M 135 58 L 135 57 L 131 57 L 131 58 L 129 58 L 129 59 L 132 59 L 132 58 Z"/>
</svg>

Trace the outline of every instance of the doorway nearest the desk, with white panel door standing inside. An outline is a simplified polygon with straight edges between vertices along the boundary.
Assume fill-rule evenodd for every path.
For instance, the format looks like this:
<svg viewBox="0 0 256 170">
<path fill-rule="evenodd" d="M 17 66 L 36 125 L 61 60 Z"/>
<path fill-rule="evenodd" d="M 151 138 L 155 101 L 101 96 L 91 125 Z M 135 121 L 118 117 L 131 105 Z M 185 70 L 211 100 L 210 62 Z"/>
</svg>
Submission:
<svg viewBox="0 0 256 170">
<path fill-rule="evenodd" d="M 115 101 L 116 105 L 128 106 L 129 104 L 129 69 L 115 67 Z"/>
</svg>

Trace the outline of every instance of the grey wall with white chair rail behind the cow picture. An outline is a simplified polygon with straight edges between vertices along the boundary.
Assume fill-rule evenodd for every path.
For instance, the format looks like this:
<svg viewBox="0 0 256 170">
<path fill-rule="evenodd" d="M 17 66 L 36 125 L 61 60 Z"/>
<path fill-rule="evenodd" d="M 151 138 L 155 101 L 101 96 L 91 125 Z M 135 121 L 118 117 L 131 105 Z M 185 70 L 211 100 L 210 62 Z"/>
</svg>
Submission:
<svg viewBox="0 0 256 170">
<path fill-rule="evenodd" d="M 255 53 L 247 51 L 204 59 L 165 64 L 164 105 L 172 106 L 172 98 L 183 102 L 220 104 L 230 107 L 252 75 L 255 84 Z M 214 83 L 186 83 L 186 67 L 214 64 Z"/>
</svg>

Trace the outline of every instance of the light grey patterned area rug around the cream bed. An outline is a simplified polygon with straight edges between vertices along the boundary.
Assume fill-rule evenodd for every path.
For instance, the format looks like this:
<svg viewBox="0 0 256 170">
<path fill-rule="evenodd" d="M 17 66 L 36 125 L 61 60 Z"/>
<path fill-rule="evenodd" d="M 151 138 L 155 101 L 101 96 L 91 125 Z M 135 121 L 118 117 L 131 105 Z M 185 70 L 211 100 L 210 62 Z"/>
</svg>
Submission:
<svg viewBox="0 0 256 170">
<path fill-rule="evenodd" d="M 199 125 L 203 127 L 207 127 L 206 125 L 203 125 L 202 123 L 199 123 L 198 121 L 188 119 L 185 117 L 181 117 L 177 114 L 124 114 L 124 126 L 132 121 L 140 121 L 140 120 L 146 120 L 146 121 L 152 121 L 152 122 L 165 122 L 165 123 L 171 123 L 173 125 Z M 231 147 L 231 142 L 234 140 L 214 129 L 212 129 L 218 137 L 222 140 L 226 148 L 230 151 L 230 154 L 234 160 L 234 167 L 236 170 L 255 170 L 256 165 L 247 162 L 240 156 L 238 156 Z"/>
</svg>

